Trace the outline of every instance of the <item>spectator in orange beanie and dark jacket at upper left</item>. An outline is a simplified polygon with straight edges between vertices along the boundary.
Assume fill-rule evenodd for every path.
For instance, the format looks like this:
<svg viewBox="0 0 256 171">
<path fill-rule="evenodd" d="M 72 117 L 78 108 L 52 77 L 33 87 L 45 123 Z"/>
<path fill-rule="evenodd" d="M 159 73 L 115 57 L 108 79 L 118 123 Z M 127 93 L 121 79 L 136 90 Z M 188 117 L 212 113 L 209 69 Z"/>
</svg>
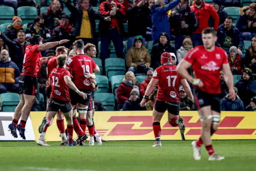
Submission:
<svg viewBox="0 0 256 171">
<path fill-rule="evenodd" d="M 10 40 L 17 39 L 17 32 L 21 29 L 24 30 L 24 28 L 22 27 L 21 18 L 18 16 L 14 16 L 13 17 L 13 25 L 7 26 L 5 35 Z"/>
</svg>

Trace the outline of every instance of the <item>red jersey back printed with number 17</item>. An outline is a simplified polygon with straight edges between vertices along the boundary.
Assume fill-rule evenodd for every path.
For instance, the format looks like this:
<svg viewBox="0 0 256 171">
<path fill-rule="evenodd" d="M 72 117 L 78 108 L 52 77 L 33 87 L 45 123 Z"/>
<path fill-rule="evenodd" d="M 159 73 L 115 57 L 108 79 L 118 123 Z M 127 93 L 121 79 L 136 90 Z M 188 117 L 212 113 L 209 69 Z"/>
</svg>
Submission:
<svg viewBox="0 0 256 171">
<path fill-rule="evenodd" d="M 183 79 L 177 72 L 175 65 L 164 65 L 156 68 L 153 78 L 158 81 L 157 100 L 180 102 L 180 80 Z"/>
</svg>

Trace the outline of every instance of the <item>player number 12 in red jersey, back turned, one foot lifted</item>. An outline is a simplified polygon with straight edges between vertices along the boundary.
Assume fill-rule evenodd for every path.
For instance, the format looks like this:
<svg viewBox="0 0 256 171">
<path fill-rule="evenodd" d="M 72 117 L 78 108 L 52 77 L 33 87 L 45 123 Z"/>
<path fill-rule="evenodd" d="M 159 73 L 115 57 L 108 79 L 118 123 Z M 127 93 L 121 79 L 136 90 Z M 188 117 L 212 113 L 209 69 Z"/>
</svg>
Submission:
<svg viewBox="0 0 256 171">
<path fill-rule="evenodd" d="M 63 112 L 67 120 L 67 132 L 69 138 L 69 146 L 76 145 L 78 142 L 73 141 L 73 121 L 72 121 L 72 106 L 69 97 L 69 88 L 74 90 L 83 99 L 87 96 L 85 93 L 80 92 L 78 88 L 71 81 L 69 71 L 65 69 L 67 62 L 66 55 L 58 55 L 57 63 L 58 68 L 53 69 L 50 72 L 49 84 L 52 85 L 52 92 L 50 95 L 50 102 L 47 107 L 46 118 L 43 119 L 41 125 L 39 126 L 39 133 L 42 133 L 45 127 L 52 125 L 54 116 L 60 110 Z"/>
</svg>

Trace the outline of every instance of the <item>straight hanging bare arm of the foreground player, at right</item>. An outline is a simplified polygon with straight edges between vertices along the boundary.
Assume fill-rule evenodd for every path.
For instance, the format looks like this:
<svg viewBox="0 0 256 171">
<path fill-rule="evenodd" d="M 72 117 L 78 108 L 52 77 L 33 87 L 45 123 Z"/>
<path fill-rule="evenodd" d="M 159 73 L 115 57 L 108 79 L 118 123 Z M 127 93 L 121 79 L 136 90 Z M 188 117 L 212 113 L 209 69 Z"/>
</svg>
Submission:
<svg viewBox="0 0 256 171">
<path fill-rule="evenodd" d="M 223 64 L 222 65 L 223 75 L 226 82 L 226 85 L 228 86 L 228 91 L 230 93 L 229 99 L 232 99 L 236 94 L 234 90 L 234 82 L 233 82 L 233 75 L 230 70 L 229 64 Z"/>
</svg>

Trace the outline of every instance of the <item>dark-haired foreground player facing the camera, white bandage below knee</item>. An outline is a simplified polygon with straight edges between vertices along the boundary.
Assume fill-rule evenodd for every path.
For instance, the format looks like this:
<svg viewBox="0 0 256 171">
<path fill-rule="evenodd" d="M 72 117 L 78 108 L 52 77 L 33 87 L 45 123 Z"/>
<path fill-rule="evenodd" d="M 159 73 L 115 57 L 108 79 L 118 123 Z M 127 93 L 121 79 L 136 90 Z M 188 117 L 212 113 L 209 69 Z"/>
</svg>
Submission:
<svg viewBox="0 0 256 171">
<path fill-rule="evenodd" d="M 195 87 L 193 93 L 202 123 L 201 137 L 197 141 L 192 142 L 195 160 L 201 159 L 200 147 L 203 143 L 209 153 L 209 160 L 223 160 L 224 157 L 219 156 L 213 150 L 211 135 L 217 131 L 221 120 L 221 97 L 219 96 L 221 94 L 220 70 L 223 70 L 230 99 L 235 96 L 233 76 L 225 51 L 215 46 L 217 37 L 214 29 L 204 29 L 202 31 L 202 41 L 204 45 L 193 48 L 178 64 L 177 72 Z M 187 69 L 191 66 L 195 72 L 194 79 L 187 72 Z"/>
</svg>

